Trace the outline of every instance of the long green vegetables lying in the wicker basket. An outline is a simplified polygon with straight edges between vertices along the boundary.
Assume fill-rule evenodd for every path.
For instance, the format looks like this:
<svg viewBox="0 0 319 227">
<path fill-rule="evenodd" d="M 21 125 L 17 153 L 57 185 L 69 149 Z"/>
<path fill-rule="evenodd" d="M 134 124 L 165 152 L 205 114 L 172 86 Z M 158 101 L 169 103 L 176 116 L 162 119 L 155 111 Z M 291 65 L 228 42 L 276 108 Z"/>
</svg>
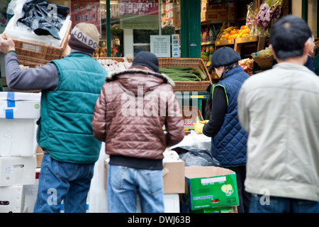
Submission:
<svg viewBox="0 0 319 227">
<path fill-rule="evenodd" d="M 206 74 L 197 67 L 169 66 L 159 68 L 159 73 L 166 74 L 173 81 L 196 82 L 206 79 Z"/>
</svg>

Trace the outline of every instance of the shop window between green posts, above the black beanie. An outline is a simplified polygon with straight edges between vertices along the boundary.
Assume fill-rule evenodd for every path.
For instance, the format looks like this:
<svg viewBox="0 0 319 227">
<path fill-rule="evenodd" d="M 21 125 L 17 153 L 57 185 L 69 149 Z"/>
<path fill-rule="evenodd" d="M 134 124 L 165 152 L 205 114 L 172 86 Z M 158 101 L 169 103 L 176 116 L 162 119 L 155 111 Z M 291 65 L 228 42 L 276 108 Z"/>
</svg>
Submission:
<svg viewBox="0 0 319 227">
<path fill-rule="evenodd" d="M 142 50 L 150 51 L 150 35 L 179 34 L 179 1 L 111 1 L 111 57 L 134 57 Z"/>
</svg>

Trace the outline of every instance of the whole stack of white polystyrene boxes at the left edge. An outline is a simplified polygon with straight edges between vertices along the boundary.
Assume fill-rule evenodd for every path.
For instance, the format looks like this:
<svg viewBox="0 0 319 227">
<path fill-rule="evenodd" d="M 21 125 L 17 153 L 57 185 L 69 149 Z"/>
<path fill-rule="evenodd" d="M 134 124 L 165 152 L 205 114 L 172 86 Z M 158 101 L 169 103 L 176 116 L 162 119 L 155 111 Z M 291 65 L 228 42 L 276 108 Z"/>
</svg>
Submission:
<svg viewBox="0 0 319 227">
<path fill-rule="evenodd" d="M 26 211 L 26 186 L 35 184 L 40 96 L 0 92 L 0 213 Z"/>
</svg>

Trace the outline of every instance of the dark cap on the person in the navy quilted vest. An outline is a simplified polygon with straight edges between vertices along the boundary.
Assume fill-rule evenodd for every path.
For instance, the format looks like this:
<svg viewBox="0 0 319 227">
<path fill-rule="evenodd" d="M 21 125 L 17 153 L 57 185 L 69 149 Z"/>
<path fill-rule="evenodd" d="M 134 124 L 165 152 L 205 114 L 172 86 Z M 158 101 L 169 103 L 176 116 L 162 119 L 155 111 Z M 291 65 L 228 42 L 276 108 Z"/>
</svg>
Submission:
<svg viewBox="0 0 319 227">
<path fill-rule="evenodd" d="M 220 48 L 213 53 L 213 56 L 211 56 L 211 67 L 209 70 L 213 70 L 214 68 L 220 66 L 233 64 L 238 62 L 240 59 L 240 55 L 233 48 Z"/>
</svg>

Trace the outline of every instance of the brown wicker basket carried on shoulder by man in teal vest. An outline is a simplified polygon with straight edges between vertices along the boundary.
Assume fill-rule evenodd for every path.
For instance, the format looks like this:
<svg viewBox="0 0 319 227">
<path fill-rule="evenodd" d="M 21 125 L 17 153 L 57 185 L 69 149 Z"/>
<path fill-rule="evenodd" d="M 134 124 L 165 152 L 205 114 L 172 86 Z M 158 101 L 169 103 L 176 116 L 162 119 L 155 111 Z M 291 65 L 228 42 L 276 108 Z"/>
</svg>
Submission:
<svg viewBox="0 0 319 227">
<path fill-rule="evenodd" d="M 70 21 L 61 47 L 52 47 L 13 39 L 16 44 L 16 53 L 18 55 L 19 63 L 21 65 L 45 65 L 47 62 L 50 62 L 50 60 L 62 58 L 63 52 L 67 47 L 71 27 L 72 22 Z"/>
</svg>

